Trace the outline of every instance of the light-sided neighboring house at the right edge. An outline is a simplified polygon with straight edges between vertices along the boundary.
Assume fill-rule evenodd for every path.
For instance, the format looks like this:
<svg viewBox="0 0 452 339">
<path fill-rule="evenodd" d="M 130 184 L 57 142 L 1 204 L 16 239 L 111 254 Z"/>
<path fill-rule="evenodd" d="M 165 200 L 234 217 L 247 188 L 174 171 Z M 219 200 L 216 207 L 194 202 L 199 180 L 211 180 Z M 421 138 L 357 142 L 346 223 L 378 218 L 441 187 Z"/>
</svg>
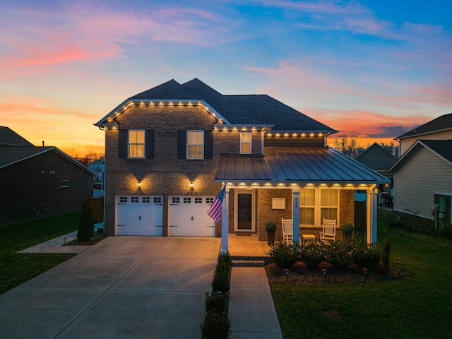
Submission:
<svg viewBox="0 0 452 339">
<path fill-rule="evenodd" d="M 452 223 L 451 139 L 452 114 L 396 138 L 401 157 L 389 169 L 394 174 L 394 210 Z"/>
</svg>

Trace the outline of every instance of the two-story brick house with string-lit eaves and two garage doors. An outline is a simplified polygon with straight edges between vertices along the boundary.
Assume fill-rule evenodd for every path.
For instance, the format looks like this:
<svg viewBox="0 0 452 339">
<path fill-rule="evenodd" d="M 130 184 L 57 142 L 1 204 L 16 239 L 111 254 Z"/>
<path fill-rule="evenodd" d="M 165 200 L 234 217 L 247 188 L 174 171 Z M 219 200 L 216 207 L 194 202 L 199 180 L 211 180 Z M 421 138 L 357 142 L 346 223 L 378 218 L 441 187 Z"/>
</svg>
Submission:
<svg viewBox="0 0 452 339">
<path fill-rule="evenodd" d="M 386 177 L 328 148 L 334 129 L 268 95 L 222 95 L 194 79 L 130 97 L 100 119 L 105 129 L 108 235 L 222 237 L 293 220 L 294 239 L 323 218 L 354 222 L 367 191 L 367 239 L 376 240 L 376 187 Z M 222 220 L 207 210 L 225 186 Z M 277 238 L 277 239 L 278 239 Z"/>
</svg>

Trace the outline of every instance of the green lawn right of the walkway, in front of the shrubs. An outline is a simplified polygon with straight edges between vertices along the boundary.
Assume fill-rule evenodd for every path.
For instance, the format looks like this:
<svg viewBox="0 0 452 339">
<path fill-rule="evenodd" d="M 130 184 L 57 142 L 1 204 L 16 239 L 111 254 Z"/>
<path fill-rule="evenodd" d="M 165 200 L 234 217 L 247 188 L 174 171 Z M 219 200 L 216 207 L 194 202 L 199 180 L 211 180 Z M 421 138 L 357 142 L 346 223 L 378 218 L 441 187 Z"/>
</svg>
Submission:
<svg viewBox="0 0 452 339">
<path fill-rule="evenodd" d="M 391 264 L 402 259 L 401 280 L 271 285 L 285 339 L 452 338 L 452 243 L 381 222 L 384 238 Z"/>
</svg>

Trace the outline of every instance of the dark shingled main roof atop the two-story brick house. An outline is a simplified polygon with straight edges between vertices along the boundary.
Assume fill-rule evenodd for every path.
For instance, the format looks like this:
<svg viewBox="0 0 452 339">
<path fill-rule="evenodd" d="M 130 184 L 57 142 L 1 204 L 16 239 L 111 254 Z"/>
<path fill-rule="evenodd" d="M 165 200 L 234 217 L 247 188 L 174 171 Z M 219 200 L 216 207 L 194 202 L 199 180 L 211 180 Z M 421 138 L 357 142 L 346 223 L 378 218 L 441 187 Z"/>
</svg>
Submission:
<svg viewBox="0 0 452 339">
<path fill-rule="evenodd" d="M 273 125 L 273 131 L 337 132 L 268 95 L 222 95 L 198 78 L 182 85 L 177 81 L 170 80 L 133 95 L 95 125 L 106 124 L 107 118 L 114 114 L 119 107 L 123 107 L 126 102 L 133 100 L 203 101 L 234 125 Z"/>
</svg>

